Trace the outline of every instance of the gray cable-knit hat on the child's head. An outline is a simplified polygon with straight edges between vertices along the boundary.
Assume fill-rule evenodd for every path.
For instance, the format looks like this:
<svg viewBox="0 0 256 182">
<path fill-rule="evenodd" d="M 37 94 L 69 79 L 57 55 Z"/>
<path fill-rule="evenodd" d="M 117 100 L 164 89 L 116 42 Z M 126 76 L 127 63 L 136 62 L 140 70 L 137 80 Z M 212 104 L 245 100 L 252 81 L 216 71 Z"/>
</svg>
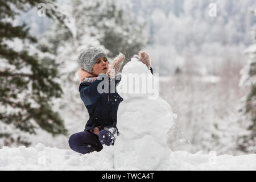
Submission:
<svg viewBox="0 0 256 182">
<path fill-rule="evenodd" d="M 79 66 L 85 71 L 92 73 L 93 65 L 100 57 L 105 57 L 108 60 L 108 56 L 100 48 L 89 47 L 88 49 L 82 50 L 77 58 Z"/>
</svg>

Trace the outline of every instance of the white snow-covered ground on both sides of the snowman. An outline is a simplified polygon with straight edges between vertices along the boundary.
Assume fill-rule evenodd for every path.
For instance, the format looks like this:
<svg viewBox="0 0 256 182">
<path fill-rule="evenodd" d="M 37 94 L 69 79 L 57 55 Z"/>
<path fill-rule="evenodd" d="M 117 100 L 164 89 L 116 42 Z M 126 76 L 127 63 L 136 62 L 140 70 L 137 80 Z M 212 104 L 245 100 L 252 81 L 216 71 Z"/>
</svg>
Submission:
<svg viewBox="0 0 256 182">
<path fill-rule="evenodd" d="M 24 146 L 3 147 L 0 149 L 0 170 L 122 170 L 123 167 L 118 168 L 114 165 L 114 150 L 115 146 L 110 146 L 104 147 L 101 152 L 79 155 L 72 150 L 45 147 L 41 143 L 28 148 Z M 166 162 L 168 167 L 164 170 L 256 169 L 256 154 L 214 156 L 213 154 L 202 154 L 202 152 L 189 154 L 185 151 L 175 151 L 166 157 L 168 158 Z M 127 159 L 124 162 L 127 162 Z M 144 166 L 147 165 L 153 166 L 152 163 L 144 163 Z M 138 164 L 134 163 L 134 166 L 138 166 Z M 133 168 L 137 167 L 130 166 L 127 169 Z"/>
</svg>

